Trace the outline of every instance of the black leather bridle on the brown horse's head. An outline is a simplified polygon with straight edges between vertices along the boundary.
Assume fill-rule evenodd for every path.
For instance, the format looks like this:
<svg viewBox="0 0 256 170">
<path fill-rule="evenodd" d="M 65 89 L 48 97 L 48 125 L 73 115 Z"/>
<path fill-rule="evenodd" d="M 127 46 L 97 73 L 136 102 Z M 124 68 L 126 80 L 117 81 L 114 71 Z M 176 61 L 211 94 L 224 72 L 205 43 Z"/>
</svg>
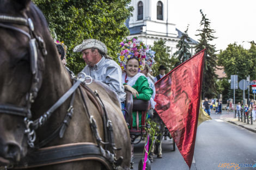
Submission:
<svg viewBox="0 0 256 170">
<path fill-rule="evenodd" d="M 19 24 L 22 26 L 27 26 L 29 28 L 29 33 L 24 30 L 13 26 L 13 24 Z M 32 72 L 31 87 L 26 94 L 26 106 L 16 106 L 11 104 L 0 103 L 0 112 L 3 114 L 11 114 L 16 116 L 22 116 L 25 119 L 26 131 L 28 136 L 28 144 L 30 147 L 34 146 L 35 141 L 35 131 L 30 129 L 32 121 L 29 119 L 32 117 L 31 114 L 31 104 L 34 102 L 38 91 L 40 89 L 39 84 L 39 73 L 38 73 L 38 49 L 43 56 L 47 55 L 44 40 L 34 32 L 34 24 L 31 18 L 28 17 L 14 17 L 9 15 L 0 15 L 0 27 L 5 29 L 14 30 L 23 35 L 26 35 L 29 39 L 29 55 L 30 55 L 30 66 Z"/>
</svg>

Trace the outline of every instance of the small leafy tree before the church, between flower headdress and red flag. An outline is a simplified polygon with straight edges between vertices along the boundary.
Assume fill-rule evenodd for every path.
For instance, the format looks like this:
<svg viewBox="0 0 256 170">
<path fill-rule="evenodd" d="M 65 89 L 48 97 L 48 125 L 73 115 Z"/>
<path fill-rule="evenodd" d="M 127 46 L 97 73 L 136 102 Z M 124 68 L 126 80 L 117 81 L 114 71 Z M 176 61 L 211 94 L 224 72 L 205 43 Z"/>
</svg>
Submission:
<svg viewBox="0 0 256 170">
<path fill-rule="evenodd" d="M 153 75 L 159 74 L 159 66 L 166 66 L 166 73 L 170 72 L 178 59 L 175 59 L 174 56 L 170 57 L 170 47 L 166 46 L 166 41 L 159 40 L 154 42 L 154 46 L 151 48 L 156 52 L 155 54 L 155 64 L 152 66 Z"/>
</svg>

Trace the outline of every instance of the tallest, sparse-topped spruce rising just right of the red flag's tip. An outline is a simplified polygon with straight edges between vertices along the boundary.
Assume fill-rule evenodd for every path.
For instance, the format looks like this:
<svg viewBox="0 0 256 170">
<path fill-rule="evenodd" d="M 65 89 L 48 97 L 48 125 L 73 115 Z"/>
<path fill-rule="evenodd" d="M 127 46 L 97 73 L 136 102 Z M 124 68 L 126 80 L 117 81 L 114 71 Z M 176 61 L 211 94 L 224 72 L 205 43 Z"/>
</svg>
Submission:
<svg viewBox="0 0 256 170">
<path fill-rule="evenodd" d="M 210 28 L 210 21 L 206 18 L 206 14 L 203 14 L 203 11 L 200 10 L 202 14 L 202 20 L 200 22 L 198 40 L 199 43 L 196 45 L 196 53 L 205 49 L 205 60 L 204 60 L 204 75 L 203 75 L 203 86 L 202 86 L 202 97 L 215 97 L 216 96 L 216 79 L 217 75 L 215 74 L 217 55 L 215 45 L 211 45 L 210 41 L 217 39 L 214 36 L 215 30 Z"/>
</svg>

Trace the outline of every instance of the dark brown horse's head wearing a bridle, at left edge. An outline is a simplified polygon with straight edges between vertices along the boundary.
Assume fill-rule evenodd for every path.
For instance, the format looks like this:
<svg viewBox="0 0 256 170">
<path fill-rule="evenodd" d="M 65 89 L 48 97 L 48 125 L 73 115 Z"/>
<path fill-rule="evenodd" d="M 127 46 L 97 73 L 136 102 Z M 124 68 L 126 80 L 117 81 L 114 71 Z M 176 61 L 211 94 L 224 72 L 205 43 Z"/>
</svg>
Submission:
<svg viewBox="0 0 256 170">
<path fill-rule="evenodd" d="M 42 84 L 47 24 L 31 1 L 0 0 L 0 4 L 1 166 L 19 161 L 27 153 L 27 141 L 33 144 L 27 120 Z"/>
</svg>

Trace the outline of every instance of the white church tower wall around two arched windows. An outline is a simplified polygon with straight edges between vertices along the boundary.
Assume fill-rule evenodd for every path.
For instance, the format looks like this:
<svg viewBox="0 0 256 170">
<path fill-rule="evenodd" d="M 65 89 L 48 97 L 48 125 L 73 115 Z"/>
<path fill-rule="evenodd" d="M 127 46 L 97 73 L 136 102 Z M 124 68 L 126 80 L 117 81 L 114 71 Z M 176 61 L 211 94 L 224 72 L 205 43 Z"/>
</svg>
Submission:
<svg viewBox="0 0 256 170">
<path fill-rule="evenodd" d="M 138 3 L 143 2 L 143 20 L 137 20 L 138 14 Z M 177 51 L 176 45 L 180 40 L 176 26 L 172 23 L 173 17 L 171 16 L 172 1 L 161 0 L 163 4 L 163 20 L 157 20 L 157 2 L 159 0 L 132 0 L 131 5 L 133 6 L 133 16 L 130 17 L 129 27 L 141 26 L 142 31 L 140 34 L 130 35 L 137 36 L 146 45 L 153 46 L 154 41 L 163 39 L 166 41 L 166 46 L 170 47 L 170 54 L 172 55 Z M 194 46 L 190 44 L 190 46 Z M 194 54 L 193 50 L 191 51 Z"/>
</svg>

